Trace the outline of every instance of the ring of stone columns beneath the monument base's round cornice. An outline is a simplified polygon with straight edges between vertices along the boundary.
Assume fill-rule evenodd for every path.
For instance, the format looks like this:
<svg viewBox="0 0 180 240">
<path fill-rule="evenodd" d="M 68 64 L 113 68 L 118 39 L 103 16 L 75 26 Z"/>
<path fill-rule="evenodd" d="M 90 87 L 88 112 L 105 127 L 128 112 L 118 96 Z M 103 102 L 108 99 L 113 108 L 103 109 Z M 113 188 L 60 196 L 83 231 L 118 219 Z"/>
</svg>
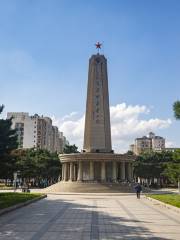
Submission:
<svg viewBox="0 0 180 240">
<path fill-rule="evenodd" d="M 100 178 L 97 179 L 95 176 L 95 161 L 77 161 L 77 162 L 64 162 L 62 163 L 62 181 L 83 181 L 83 180 L 89 180 L 89 181 L 102 181 L 106 182 L 108 181 L 107 176 L 107 166 L 106 164 L 108 162 L 101 161 L 98 162 L 100 169 L 99 169 L 99 176 Z M 88 176 L 84 179 L 83 172 L 85 171 L 85 166 L 83 164 L 88 164 Z M 131 162 L 111 162 L 111 174 L 110 174 L 110 180 L 112 182 L 117 181 L 132 181 L 133 178 L 133 171 L 132 171 L 132 163 Z"/>
</svg>

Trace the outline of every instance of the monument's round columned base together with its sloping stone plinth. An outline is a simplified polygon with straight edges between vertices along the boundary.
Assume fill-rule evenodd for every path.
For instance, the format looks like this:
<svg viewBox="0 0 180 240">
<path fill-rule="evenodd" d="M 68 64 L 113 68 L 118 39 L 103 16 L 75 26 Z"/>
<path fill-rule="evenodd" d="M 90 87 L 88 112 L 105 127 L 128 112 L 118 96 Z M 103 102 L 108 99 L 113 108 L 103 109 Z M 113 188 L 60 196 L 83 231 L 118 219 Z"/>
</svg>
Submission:
<svg viewBox="0 0 180 240">
<path fill-rule="evenodd" d="M 114 153 L 73 153 L 59 155 L 61 181 L 46 193 L 127 193 L 133 192 L 135 156 Z"/>
</svg>

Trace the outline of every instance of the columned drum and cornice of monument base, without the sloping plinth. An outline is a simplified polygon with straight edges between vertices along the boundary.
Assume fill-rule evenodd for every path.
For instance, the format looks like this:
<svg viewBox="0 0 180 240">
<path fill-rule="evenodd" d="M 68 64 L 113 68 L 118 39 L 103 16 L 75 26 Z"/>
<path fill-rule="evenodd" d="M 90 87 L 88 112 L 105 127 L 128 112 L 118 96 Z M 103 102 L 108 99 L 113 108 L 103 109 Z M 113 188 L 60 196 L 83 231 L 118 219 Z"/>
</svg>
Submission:
<svg viewBox="0 0 180 240">
<path fill-rule="evenodd" d="M 114 153 L 60 154 L 62 181 L 131 182 L 135 156 Z"/>
</svg>

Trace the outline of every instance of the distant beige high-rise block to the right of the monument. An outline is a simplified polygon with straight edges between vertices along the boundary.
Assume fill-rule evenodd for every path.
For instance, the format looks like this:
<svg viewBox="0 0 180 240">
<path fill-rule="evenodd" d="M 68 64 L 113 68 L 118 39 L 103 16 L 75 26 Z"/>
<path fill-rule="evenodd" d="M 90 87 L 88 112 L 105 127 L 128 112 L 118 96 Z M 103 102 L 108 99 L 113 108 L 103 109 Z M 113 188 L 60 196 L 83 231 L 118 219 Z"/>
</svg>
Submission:
<svg viewBox="0 0 180 240">
<path fill-rule="evenodd" d="M 130 150 L 136 155 L 151 151 L 161 152 L 165 150 L 165 139 L 150 132 L 148 136 L 136 138 L 135 143 L 130 145 Z"/>
</svg>

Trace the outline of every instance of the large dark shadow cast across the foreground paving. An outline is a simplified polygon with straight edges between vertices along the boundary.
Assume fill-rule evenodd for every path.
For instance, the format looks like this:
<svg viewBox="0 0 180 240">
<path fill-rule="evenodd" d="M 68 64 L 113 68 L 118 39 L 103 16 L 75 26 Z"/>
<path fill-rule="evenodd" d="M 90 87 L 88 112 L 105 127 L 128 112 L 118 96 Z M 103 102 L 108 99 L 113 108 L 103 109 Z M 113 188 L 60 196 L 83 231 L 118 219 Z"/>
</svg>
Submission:
<svg viewBox="0 0 180 240">
<path fill-rule="evenodd" d="M 1 216 L 0 240 L 168 240 L 154 237 L 144 226 L 150 222 L 113 216 L 113 206 L 97 209 L 91 200 L 87 205 L 47 198 Z"/>
</svg>

